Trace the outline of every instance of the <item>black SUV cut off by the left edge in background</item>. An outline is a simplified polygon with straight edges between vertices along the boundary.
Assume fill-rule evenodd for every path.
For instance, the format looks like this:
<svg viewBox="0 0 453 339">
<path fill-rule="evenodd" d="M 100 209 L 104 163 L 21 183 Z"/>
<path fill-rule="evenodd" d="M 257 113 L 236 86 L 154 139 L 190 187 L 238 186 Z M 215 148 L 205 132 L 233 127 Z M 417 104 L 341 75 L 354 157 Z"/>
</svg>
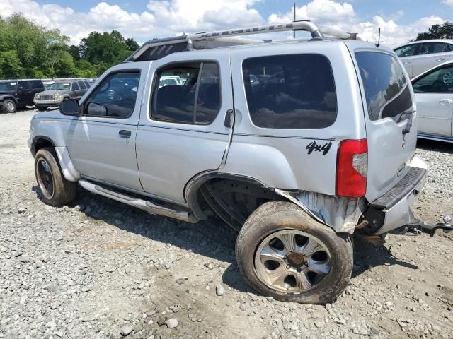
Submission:
<svg viewBox="0 0 453 339">
<path fill-rule="evenodd" d="M 40 80 L 0 81 L 0 109 L 13 113 L 18 108 L 35 105 L 35 94 L 43 90 L 44 84 Z"/>
</svg>

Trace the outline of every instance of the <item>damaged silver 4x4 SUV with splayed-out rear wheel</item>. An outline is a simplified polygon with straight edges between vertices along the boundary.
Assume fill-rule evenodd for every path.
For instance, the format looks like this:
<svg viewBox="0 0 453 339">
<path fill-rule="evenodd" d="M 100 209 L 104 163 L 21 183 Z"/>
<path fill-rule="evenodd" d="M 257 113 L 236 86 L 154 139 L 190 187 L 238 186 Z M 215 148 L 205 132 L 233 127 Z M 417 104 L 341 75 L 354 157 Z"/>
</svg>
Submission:
<svg viewBox="0 0 453 339">
<path fill-rule="evenodd" d="M 312 39 L 231 38 L 294 29 Z M 354 232 L 414 225 L 426 165 L 396 54 L 323 32 L 338 33 L 300 22 L 145 43 L 80 102 L 31 121 L 42 200 L 71 203 L 78 182 L 185 222 L 218 215 L 258 292 L 331 302 L 350 279 Z"/>
</svg>

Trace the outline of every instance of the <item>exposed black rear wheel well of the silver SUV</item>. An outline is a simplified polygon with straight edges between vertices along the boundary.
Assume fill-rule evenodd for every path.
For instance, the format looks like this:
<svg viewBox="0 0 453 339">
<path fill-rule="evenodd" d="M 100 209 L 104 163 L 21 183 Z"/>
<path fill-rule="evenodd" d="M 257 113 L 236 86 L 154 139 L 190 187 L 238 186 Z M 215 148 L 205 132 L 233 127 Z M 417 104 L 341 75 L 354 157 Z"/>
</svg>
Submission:
<svg viewBox="0 0 453 339">
<path fill-rule="evenodd" d="M 268 201 L 282 197 L 262 183 L 234 175 L 219 175 L 199 182 L 189 196 L 189 206 L 199 220 L 216 214 L 239 231 L 248 216 Z"/>
</svg>

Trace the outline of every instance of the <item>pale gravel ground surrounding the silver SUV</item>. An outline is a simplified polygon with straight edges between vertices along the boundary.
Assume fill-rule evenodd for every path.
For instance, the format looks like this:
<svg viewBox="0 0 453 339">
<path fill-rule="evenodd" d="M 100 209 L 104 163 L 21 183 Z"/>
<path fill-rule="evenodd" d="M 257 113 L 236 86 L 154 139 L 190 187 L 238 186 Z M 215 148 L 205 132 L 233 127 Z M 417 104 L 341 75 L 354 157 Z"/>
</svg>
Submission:
<svg viewBox="0 0 453 339">
<path fill-rule="evenodd" d="M 452 237 L 356 240 L 334 303 L 256 295 L 234 232 L 148 215 L 79 189 L 40 200 L 26 146 L 33 110 L 0 114 L 0 338 L 453 338 Z M 452 144 L 420 141 L 426 222 L 453 212 Z"/>
</svg>

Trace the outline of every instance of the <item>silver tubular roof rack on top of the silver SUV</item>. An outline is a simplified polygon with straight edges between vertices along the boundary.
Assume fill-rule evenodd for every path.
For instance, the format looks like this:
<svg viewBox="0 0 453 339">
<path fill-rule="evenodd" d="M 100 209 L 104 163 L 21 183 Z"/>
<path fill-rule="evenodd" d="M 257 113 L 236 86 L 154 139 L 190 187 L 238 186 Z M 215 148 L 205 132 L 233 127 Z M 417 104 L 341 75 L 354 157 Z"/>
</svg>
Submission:
<svg viewBox="0 0 453 339">
<path fill-rule="evenodd" d="M 314 40 L 322 40 L 324 34 L 345 40 L 362 40 L 357 33 L 348 33 L 332 28 L 318 27 L 309 20 L 266 25 L 250 28 L 235 28 L 231 30 L 217 30 L 214 32 L 199 32 L 176 37 L 149 40 L 142 44 L 125 62 L 151 61 L 166 57 L 168 54 L 191 51 L 193 49 L 212 49 L 218 47 L 236 46 L 239 44 L 263 44 L 263 40 L 231 38 L 239 35 L 255 35 L 273 32 L 305 30 L 311 33 Z M 266 42 L 271 42 L 268 40 Z"/>
</svg>

